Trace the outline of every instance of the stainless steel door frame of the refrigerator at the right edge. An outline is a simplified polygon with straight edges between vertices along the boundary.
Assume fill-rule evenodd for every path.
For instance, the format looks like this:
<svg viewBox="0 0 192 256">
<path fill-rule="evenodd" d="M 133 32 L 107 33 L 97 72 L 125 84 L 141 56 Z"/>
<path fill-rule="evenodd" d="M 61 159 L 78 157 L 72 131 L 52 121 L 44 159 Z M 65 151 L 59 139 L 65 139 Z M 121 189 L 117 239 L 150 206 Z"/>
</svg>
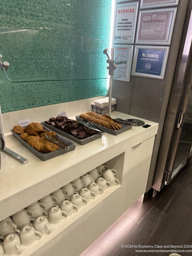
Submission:
<svg viewBox="0 0 192 256">
<path fill-rule="evenodd" d="M 171 177 L 173 178 L 172 173 L 174 172 L 174 160 L 176 157 L 178 157 L 176 153 L 179 154 L 179 149 L 177 152 L 177 148 L 180 141 L 180 134 L 183 129 L 182 127 L 184 126 L 184 124 L 182 124 L 182 127 L 180 124 L 178 125 L 178 123 L 180 123 L 179 116 L 181 116 L 181 112 L 186 112 L 186 105 L 191 89 L 189 79 L 189 76 L 191 76 L 190 72 L 192 60 L 191 41 L 192 1 L 189 1 L 180 40 L 179 52 L 177 55 L 171 92 L 169 95 L 169 102 L 164 119 L 164 126 L 156 161 L 155 174 L 153 177 L 152 188 L 157 191 L 160 191 L 165 186 L 165 184 L 168 184 L 172 180 Z M 185 123 L 185 116 L 183 120 Z M 175 172 L 173 175 L 176 175 Z"/>
</svg>

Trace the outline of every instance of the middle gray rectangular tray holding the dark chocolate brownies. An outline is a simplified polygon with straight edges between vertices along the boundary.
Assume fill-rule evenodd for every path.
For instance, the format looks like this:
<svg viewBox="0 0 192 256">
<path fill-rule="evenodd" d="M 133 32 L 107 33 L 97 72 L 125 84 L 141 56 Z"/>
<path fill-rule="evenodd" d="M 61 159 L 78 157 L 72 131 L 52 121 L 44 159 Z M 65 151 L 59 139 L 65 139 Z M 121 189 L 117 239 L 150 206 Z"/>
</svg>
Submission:
<svg viewBox="0 0 192 256">
<path fill-rule="evenodd" d="M 92 135 L 92 136 L 90 136 L 90 137 L 88 137 L 86 139 L 80 140 L 80 139 L 78 139 L 78 138 L 68 134 L 67 132 L 63 132 L 63 131 L 59 130 L 58 128 L 55 128 L 55 127 L 53 127 L 53 126 L 51 126 L 49 124 L 45 124 L 44 122 L 41 122 L 41 124 L 46 126 L 47 128 L 49 128 L 50 130 L 52 130 L 54 132 L 57 132 L 61 136 L 64 136 L 64 137 L 66 137 L 66 138 L 68 138 L 70 140 L 74 140 L 75 142 L 77 142 L 77 143 L 79 143 L 81 145 L 85 145 L 85 144 L 87 144 L 89 142 L 92 142 L 93 140 L 97 140 L 97 139 L 102 137 L 102 134 L 97 133 L 97 134 Z"/>
</svg>

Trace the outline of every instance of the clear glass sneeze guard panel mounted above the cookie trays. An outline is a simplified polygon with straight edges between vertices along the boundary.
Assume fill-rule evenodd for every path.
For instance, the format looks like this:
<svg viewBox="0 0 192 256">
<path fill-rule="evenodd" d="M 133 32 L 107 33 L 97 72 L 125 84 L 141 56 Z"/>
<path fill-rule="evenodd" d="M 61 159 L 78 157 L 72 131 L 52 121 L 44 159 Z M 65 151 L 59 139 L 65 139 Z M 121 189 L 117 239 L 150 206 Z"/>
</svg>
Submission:
<svg viewBox="0 0 192 256">
<path fill-rule="evenodd" d="M 101 39 L 0 28 L 0 42 L 2 61 L 10 63 L 4 72 L 13 83 L 109 78 L 103 54 L 107 46 Z"/>
</svg>

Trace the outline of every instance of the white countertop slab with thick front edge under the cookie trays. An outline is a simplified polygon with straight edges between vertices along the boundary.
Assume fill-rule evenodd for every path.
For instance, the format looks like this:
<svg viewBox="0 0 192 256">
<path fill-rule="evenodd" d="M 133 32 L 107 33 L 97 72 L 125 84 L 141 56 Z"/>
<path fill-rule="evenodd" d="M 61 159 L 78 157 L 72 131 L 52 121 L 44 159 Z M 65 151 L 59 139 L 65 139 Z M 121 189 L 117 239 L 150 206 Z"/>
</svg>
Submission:
<svg viewBox="0 0 192 256">
<path fill-rule="evenodd" d="M 112 112 L 112 117 L 137 118 L 116 111 Z M 75 119 L 75 117 L 70 118 Z M 143 121 L 146 124 L 150 124 L 151 127 L 147 129 L 132 127 L 131 130 L 117 136 L 105 133 L 102 138 L 86 145 L 76 143 L 74 151 L 44 162 L 24 148 L 12 136 L 11 132 L 6 133 L 6 147 L 27 158 L 28 163 L 21 164 L 4 152 L 1 153 L 0 209 L 5 210 L 0 211 L 0 220 L 20 210 L 21 206 L 26 207 L 28 204 L 46 196 L 48 193 L 102 164 L 102 154 L 105 154 L 106 149 L 140 133 L 143 135 L 151 133 L 151 136 L 154 136 L 157 133 L 158 124 L 148 120 Z M 119 150 L 122 151 L 123 149 Z M 99 155 L 96 163 L 94 156 L 97 154 Z M 78 170 L 78 166 L 81 171 Z M 5 216 L 5 212 L 9 215 Z"/>
</svg>

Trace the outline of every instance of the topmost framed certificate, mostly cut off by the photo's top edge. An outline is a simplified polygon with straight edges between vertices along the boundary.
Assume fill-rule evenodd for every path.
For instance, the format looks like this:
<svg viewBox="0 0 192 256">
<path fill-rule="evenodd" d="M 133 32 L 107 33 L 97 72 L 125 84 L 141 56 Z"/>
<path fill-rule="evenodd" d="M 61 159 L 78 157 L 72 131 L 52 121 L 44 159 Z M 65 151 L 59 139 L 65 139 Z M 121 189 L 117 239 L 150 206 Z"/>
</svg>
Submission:
<svg viewBox="0 0 192 256">
<path fill-rule="evenodd" d="M 140 9 L 178 5 L 179 0 L 141 0 Z"/>
</svg>

